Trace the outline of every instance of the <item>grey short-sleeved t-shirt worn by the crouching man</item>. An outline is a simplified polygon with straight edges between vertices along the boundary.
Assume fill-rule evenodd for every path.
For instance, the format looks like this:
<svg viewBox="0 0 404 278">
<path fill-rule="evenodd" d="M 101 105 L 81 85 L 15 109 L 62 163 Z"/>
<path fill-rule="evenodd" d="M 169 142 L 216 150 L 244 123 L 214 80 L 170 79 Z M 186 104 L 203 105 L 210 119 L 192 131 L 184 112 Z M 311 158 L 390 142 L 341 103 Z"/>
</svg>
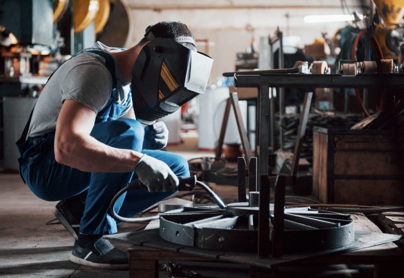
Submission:
<svg viewBox="0 0 404 278">
<path fill-rule="evenodd" d="M 101 111 L 111 97 L 112 76 L 105 66 L 105 59 L 94 53 L 83 53 L 86 50 L 102 50 L 110 48 L 97 41 L 91 48 L 83 50 L 72 59 L 60 66 L 52 78 L 46 83 L 32 114 L 29 125 L 29 136 L 40 136 L 56 130 L 56 121 L 65 100 L 75 100 L 91 108 L 95 113 Z M 117 79 L 117 94 L 114 102 L 126 103 L 130 91 L 129 83 L 125 82 L 114 56 L 115 75 Z M 131 105 L 120 116 L 132 107 Z"/>
</svg>

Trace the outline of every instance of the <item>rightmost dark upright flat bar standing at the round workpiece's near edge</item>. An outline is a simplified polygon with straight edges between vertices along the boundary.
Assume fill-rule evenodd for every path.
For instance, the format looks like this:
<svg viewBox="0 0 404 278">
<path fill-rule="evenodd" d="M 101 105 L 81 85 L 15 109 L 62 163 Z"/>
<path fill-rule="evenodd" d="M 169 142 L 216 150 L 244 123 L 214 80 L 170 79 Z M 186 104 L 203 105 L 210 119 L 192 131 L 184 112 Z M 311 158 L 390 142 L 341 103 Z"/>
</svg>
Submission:
<svg viewBox="0 0 404 278">
<path fill-rule="evenodd" d="M 274 232 L 272 236 L 272 257 L 283 255 L 283 220 L 285 209 L 285 177 L 278 175 L 275 181 Z M 260 208 L 261 210 L 261 208 Z"/>
</svg>

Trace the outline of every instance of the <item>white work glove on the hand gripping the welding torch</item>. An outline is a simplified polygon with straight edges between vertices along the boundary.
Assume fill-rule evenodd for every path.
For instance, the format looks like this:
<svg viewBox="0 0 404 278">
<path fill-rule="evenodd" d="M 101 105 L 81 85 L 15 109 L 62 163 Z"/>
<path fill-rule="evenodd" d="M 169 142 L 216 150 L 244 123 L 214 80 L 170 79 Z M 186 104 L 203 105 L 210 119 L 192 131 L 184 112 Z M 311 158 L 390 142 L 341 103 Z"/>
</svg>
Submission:
<svg viewBox="0 0 404 278">
<path fill-rule="evenodd" d="M 178 177 L 166 163 L 154 157 L 143 155 L 133 169 L 148 192 L 176 190 Z"/>
</svg>

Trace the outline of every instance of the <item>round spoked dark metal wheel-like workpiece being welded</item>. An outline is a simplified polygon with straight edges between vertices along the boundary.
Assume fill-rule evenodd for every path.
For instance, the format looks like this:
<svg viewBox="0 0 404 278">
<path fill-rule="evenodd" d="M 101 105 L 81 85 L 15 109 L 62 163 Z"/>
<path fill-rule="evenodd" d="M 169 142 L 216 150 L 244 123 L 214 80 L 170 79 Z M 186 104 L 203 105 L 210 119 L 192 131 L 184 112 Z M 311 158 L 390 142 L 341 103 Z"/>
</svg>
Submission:
<svg viewBox="0 0 404 278">
<path fill-rule="evenodd" d="M 231 212 L 236 208 L 239 215 Z M 244 210 L 244 213 L 241 211 Z M 273 221 L 274 208 L 268 210 Z M 354 221 L 349 215 L 305 208 L 284 208 L 283 248 L 285 254 L 299 251 L 321 251 L 347 246 L 354 242 Z M 160 237 L 166 241 L 201 249 L 257 252 L 258 207 L 248 203 L 185 207 L 160 215 Z M 268 220 L 269 220 L 268 219 Z M 324 226 L 324 227 L 323 227 Z M 274 238 L 267 238 L 267 252 Z M 264 249 L 265 250 L 265 249 Z"/>
</svg>

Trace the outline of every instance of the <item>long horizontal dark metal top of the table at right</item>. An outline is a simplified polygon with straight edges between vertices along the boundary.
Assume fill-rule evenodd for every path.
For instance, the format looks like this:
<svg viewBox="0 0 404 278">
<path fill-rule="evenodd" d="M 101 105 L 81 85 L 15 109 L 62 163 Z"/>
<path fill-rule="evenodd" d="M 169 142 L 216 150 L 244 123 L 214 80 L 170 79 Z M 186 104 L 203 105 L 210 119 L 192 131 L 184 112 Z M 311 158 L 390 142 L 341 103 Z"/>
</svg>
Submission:
<svg viewBox="0 0 404 278">
<path fill-rule="evenodd" d="M 402 88 L 404 73 L 235 75 L 237 87 Z"/>
</svg>

